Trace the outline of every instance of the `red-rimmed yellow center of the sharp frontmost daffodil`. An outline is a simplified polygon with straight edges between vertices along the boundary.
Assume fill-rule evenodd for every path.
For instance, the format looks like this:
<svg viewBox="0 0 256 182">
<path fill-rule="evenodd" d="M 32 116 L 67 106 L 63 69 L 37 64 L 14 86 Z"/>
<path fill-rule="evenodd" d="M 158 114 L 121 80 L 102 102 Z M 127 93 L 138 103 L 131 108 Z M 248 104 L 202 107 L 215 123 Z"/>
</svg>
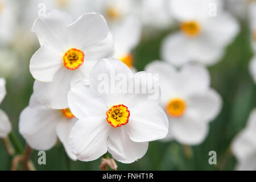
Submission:
<svg viewBox="0 0 256 182">
<path fill-rule="evenodd" d="M 130 111 L 125 105 L 116 105 L 106 111 L 106 120 L 113 127 L 121 127 L 129 121 Z"/>
</svg>

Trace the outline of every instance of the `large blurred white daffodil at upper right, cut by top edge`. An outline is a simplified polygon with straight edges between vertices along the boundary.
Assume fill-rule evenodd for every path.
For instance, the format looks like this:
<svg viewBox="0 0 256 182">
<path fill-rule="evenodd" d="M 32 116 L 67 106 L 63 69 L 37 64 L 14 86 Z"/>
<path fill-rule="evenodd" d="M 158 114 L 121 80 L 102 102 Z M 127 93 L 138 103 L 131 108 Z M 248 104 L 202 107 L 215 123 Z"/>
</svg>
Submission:
<svg viewBox="0 0 256 182">
<path fill-rule="evenodd" d="M 210 65 L 220 60 L 240 30 L 237 20 L 221 7 L 217 0 L 170 1 L 180 31 L 163 40 L 162 58 L 176 66 L 189 61 Z"/>
</svg>

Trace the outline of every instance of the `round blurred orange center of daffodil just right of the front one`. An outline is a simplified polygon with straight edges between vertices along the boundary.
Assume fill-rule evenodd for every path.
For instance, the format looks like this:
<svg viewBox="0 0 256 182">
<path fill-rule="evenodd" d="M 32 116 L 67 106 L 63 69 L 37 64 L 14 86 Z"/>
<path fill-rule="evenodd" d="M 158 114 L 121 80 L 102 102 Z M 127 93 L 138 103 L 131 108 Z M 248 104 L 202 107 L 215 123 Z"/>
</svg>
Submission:
<svg viewBox="0 0 256 182">
<path fill-rule="evenodd" d="M 175 98 L 168 103 L 166 110 L 172 117 L 180 117 L 183 115 L 185 108 L 185 102 L 180 98 Z"/>
</svg>

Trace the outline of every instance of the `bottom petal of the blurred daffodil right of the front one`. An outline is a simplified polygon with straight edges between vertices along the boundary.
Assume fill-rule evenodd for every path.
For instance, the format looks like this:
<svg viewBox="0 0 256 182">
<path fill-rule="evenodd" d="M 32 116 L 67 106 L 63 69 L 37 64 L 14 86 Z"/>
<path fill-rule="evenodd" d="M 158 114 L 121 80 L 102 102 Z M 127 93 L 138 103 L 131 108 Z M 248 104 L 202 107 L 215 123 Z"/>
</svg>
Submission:
<svg viewBox="0 0 256 182">
<path fill-rule="evenodd" d="M 194 113 L 186 112 L 180 118 L 169 118 L 171 134 L 182 143 L 196 145 L 203 142 L 208 134 L 208 123 L 201 121 Z"/>
</svg>

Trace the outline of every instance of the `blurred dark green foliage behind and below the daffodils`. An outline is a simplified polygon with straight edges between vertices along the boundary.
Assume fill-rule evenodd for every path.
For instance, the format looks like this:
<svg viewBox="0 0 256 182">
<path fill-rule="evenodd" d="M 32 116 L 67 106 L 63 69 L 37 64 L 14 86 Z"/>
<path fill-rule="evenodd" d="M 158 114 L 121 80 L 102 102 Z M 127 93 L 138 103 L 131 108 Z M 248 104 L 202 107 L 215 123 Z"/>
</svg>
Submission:
<svg viewBox="0 0 256 182">
<path fill-rule="evenodd" d="M 143 39 L 134 51 L 134 65 L 138 71 L 150 61 L 160 59 L 160 43 L 170 32 L 161 32 L 150 39 Z M 28 50 L 27 54 L 19 55 L 18 67 L 23 69 L 16 77 L 7 78 L 7 96 L 1 109 L 9 115 L 13 124 L 14 134 L 22 143 L 25 142 L 18 132 L 19 114 L 28 105 L 32 94 L 34 79 L 28 70 L 30 57 L 36 51 Z M 214 51 L 214 50 L 213 50 Z M 228 149 L 234 136 L 243 129 L 251 109 L 255 107 L 255 84 L 249 75 L 248 63 L 253 56 L 250 47 L 250 32 L 247 23 L 241 24 L 241 32 L 234 43 L 227 49 L 225 56 L 216 65 L 209 67 L 212 77 L 211 85 L 222 96 L 223 107 L 218 117 L 210 123 L 207 139 L 199 146 L 192 146 L 192 154 L 187 157 L 184 147 L 177 142 L 150 142 L 147 154 L 132 164 L 117 162 L 119 170 L 233 170 L 236 159 Z M 209 151 L 217 152 L 217 165 L 209 165 Z M 46 152 L 47 164 L 38 164 L 38 152 L 33 151 L 32 162 L 38 170 L 99 170 L 101 159 L 93 162 L 73 162 L 68 159 L 61 143 Z M 109 154 L 108 154 L 109 155 Z M 110 156 L 110 155 L 109 155 Z M 0 170 L 11 169 L 11 156 L 0 142 Z"/>
</svg>

